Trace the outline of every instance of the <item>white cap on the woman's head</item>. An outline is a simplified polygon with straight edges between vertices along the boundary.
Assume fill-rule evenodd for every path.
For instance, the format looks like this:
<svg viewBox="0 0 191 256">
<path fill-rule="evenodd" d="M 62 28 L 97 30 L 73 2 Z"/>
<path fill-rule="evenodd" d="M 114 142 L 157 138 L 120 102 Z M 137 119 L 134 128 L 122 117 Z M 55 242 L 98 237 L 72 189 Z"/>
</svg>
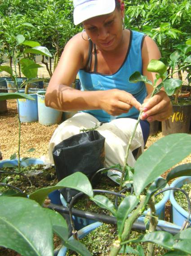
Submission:
<svg viewBox="0 0 191 256">
<path fill-rule="evenodd" d="M 115 0 L 73 0 L 74 24 L 78 25 L 86 19 L 112 13 Z"/>
</svg>

